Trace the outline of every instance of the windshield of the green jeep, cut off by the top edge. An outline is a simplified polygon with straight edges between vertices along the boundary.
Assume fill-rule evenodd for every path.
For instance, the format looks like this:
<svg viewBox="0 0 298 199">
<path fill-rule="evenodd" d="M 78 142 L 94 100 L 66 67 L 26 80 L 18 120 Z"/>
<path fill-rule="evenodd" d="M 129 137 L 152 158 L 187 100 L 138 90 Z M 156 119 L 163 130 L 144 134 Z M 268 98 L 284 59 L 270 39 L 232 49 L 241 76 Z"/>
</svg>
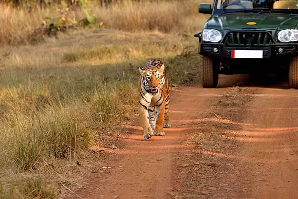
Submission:
<svg viewBox="0 0 298 199">
<path fill-rule="evenodd" d="M 214 14 L 223 13 L 298 14 L 298 0 L 216 0 Z"/>
</svg>

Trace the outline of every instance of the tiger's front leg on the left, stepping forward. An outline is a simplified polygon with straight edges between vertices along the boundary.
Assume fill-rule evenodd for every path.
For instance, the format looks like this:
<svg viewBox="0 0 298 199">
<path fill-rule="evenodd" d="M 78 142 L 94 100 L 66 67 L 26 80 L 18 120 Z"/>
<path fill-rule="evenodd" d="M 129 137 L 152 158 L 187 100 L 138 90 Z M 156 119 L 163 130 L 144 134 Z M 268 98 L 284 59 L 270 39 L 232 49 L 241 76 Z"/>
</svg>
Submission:
<svg viewBox="0 0 298 199">
<path fill-rule="evenodd" d="M 149 124 L 148 107 L 149 107 L 149 103 L 146 105 L 140 103 L 140 106 L 139 106 L 139 117 L 144 131 L 144 134 L 143 134 L 144 140 L 149 139 L 150 137 L 152 137 L 152 134 L 153 134 L 152 128 L 150 127 L 150 124 Z"/>
</svg>

